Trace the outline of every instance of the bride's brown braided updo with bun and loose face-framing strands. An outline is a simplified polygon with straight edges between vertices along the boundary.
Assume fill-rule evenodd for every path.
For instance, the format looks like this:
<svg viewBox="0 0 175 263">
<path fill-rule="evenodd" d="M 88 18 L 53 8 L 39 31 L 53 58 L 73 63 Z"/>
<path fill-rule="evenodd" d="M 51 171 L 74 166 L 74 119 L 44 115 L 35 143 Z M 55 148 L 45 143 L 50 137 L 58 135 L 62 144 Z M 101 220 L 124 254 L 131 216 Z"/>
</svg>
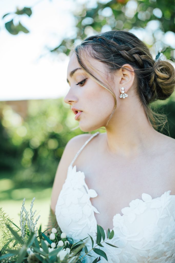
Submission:
<svg viewBox="0 0 175 263">
<path fill-rule="evenodd" d="M 165 60 L 154 60 L 148 47 L 134 34 L 127 31 L 112 30 L 85 38 L 74 48 L 73 52 L 76 53 L 80 67 L 113 95 L 115 105 L 109 120 L 116 109 L 116 96 L 112 88 L 108 88 L 87 69 L 88 60 L 85 61 L 85 64 L 82 57 L 82 55 L 87 55 L 87 51 L 92 58 L 104 63 L 111 75 L 126 63 L 133 67 L 137 81 L 136 94 L 145 109 L 147 118 L 157 129 L 160 125 L 156 125 L 153 115 L 158 117 L 157 120 L 166 116 L 153 112 L 149 104 L 157 99 L 165 100 L 173 93 L 175 88 L 173 65 Z M 92 65 L 90 67 L 94 70 Z M 164 126 L 166 122 L 167 117 L 161 125 Z"/>
</svg>

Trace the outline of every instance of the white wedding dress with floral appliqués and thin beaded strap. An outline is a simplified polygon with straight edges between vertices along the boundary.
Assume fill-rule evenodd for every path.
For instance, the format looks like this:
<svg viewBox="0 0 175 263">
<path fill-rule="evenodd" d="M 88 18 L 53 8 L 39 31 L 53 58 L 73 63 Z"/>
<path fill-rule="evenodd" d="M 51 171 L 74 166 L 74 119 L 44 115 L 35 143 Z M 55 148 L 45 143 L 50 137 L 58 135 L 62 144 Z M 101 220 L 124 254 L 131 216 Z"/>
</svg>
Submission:
<svg viewBox="0 0 175 263">
<path fill-rule="evenodd" d="M 99 132 L 86 141 L 68 167 L 67 178 L 55 208 L 62 232 L 75 241 L 88 237 L 84 240 L 88 251 L 92 249 L 88 234 L 96 244 L 97 221 L 94 213 L 99 211 L 91 204 L 90 198 L 95 198 L 97 193 L 94 189 L 88 189 L 83 171 L 77 171 L 76 165 L 72 164 L 97 134 Z M 132 200 L 128 207 L 121 210 L 122 216 L 114 215 L 114 237 L 107 242 L 117 248 L 104 242 L 104 247 L 96 247 L 106 253 L 109 263 L 175 263 L 175 195 L 170 193 L 171 190 L 168 190 L 157 198 L 143 193 L 142 199 Z M 85 262 L 93 262 L 99 256 L 93 250 L 90 255 L 93 257 L 84 257 Z M 104 257 L 100 256 L 100 259 L 99 262 L 107 263 Z"/>
</svg>

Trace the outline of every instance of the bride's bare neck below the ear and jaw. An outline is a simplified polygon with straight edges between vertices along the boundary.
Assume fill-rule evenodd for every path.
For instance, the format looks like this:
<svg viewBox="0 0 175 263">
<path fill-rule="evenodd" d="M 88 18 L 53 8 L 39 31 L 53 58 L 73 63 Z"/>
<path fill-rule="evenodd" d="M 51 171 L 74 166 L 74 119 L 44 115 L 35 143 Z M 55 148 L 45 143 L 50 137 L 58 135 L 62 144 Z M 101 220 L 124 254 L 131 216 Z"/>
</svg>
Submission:
<svg viewBox="0 0 175 263">
<path fill-rule="evenodd" d="M 151 149 L 159 133 L 152 127 L 143 106 L 136 109 L 128 102 L 123 106 L 106 127 L 106 150 L 112 155 L 134 158 Z"/>
</svg>

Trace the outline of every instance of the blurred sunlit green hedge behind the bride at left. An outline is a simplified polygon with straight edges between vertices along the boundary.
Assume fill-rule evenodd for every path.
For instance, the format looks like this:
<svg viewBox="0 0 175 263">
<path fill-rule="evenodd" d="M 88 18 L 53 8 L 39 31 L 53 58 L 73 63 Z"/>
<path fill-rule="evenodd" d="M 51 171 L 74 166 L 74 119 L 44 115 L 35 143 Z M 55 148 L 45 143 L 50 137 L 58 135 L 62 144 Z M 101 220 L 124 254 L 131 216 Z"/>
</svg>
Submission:
<svg viewBox="0 0 175 263">
<path fill-rule="evenodd" d="M 71 130 L 77 123 L 63 98 L 28 101 L 25 119 L 3 102 L 0 112 L 1 171 L 13 171 L 14 189 L 51 187 L 66 143 L 82 133 Z"/>
</svg>

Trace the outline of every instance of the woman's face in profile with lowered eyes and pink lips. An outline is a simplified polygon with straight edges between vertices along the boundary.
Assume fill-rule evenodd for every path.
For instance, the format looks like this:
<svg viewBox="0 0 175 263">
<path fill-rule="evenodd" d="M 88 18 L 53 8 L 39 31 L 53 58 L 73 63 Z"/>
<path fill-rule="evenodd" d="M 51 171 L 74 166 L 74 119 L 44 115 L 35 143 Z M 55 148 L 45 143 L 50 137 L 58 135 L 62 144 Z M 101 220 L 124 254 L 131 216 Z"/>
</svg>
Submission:
<svg viewBox="0 0 175 263">
<path fill-rule="evenodd" d="M 104 83 L 104 79 L 108 77 L 104 64 L 92 58 L 88 58 L 88 61 L 95 70 L 93 72 L 92 69 L 88 69 Z M 72 54 L 68 64 L 67 81 L 70 89 L 64 102 L 70 104 L 71 108 L 82 111 L 76 119 L 79 128 L 82 131 L 92 131 L 105 127 L 114 107 L 114 98 L 108 90 L 88 77 L 80 68 L 75 53 Z"/>
</svg>

